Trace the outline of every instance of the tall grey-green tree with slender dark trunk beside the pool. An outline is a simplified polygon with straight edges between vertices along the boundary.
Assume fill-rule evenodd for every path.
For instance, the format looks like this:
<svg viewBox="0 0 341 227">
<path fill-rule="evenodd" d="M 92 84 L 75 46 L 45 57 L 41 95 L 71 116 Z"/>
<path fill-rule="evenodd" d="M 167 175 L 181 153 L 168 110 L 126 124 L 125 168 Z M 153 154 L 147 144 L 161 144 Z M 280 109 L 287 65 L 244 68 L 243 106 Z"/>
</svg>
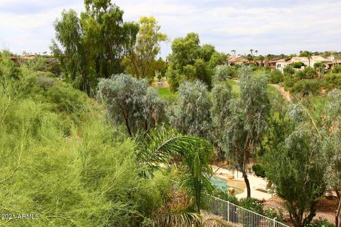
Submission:
<svg viewBox="0 0 341 227">
<path fill-rule="evenodd" d="M 247 196 L 251 196 L 249 179 L 247 177 L 247 164 L 256 147 L 261 142 L 268 121 L 270 103 L 266 90 L 266 77 L 256 77 L 249 67 L 239 70 L 240 94 L 237 99 L 229 103 L 230 114 L 221 119 L 225 123 L 226 134 L 222 138 L 227 157 L 231 159 L 242 171 Z"/>
</svg>

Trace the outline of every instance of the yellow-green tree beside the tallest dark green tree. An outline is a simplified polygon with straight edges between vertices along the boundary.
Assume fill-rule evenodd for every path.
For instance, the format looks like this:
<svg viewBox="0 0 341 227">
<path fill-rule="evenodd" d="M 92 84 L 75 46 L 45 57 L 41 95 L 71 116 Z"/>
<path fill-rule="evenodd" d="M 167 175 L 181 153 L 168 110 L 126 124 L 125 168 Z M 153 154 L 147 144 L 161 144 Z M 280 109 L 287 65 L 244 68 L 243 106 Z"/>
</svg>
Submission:
<svg viewBox="0 0 341 227">
<path fill-rule="evenodd" d="M 161 33 L 160 29 L 161 26 L 153 16 L 140 18 L 136 44 L 130 54 L 124 57 L 126 72 L 138 79 L 153 79 L 158 70 L 156 56 L 160 52 L 160 43 L 167 40 L 167 35 Z"/>
</svg>

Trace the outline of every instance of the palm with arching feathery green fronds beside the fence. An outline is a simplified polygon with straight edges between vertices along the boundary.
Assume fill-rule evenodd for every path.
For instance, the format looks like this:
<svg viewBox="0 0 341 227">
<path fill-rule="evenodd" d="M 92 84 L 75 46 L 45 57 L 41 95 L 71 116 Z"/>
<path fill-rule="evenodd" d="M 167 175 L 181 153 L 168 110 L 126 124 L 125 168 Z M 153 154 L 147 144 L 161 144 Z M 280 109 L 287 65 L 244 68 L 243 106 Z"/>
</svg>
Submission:
<svg viewBox="0 0 341 227">
<path fill-rule="evenodd" d="M 202 193 L 212 192 L 213 189 L 210 183 L 212 167 L 208 163 L 212 145 L 203 138 L 180 135 L 164 126 L 154 128 L 143 136 L 142 149 L 137 155 L 141 174 L 144 177 L 153 176 L 155 170 L 162 168 L 161 163 L 169 167 L 171 157 L 180 156 L 180 186 L 193 196 L 197 214 L 200 214 Z"/>
</svg>

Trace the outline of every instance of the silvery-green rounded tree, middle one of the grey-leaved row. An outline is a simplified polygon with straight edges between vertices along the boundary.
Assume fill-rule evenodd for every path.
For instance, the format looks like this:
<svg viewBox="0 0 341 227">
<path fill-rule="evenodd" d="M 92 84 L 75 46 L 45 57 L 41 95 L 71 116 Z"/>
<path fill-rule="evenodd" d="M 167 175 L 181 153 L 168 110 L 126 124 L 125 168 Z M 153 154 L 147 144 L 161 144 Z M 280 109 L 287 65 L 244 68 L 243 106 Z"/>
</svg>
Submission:
<svg viewBox="0 0 341 227">
<path fill-rule="evenodd" d="M 170 122 L 180 133 L 210 138 L 212 101 L 202 82 L 184 82 L 178 89 L 178 101 L 173 106 Z"/>
</svg>

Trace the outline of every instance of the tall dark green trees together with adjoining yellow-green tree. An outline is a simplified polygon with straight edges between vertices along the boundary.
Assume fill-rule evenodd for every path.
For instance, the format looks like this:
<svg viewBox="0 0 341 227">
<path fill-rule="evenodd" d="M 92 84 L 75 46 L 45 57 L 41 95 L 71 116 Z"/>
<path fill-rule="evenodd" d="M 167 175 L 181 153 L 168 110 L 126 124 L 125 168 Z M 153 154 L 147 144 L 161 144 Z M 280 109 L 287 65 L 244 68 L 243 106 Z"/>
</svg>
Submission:
<svg viewBox="0 0 341 227">
<path fill-rule="evenodd" d="M 73 86 L 87 94 L 96 92 L 98 78 L 109 78 L 126 70 L 137 78 L 164 74 L 166 62 L 156 60 L 160 43 L 167 36 L 153 17 L 138 23 L 123 21 L 124 11 L 111 1 L 85 1 L 77 16 L 70 9 L 55 21 L 51 45 L 62 70 Z"/>
</svg>

